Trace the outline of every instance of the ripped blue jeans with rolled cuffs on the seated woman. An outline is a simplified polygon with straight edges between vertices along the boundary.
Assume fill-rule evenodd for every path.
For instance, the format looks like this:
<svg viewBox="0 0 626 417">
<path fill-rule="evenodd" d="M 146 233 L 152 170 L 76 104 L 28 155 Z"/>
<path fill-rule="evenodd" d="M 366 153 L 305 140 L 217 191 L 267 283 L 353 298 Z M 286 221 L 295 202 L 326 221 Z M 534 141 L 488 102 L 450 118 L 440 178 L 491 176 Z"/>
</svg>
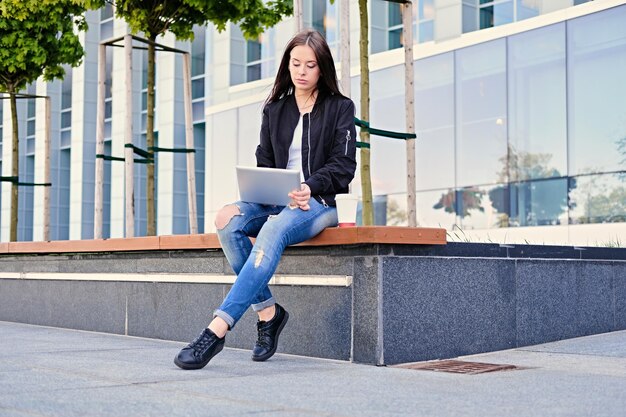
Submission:
<svg viewBox="0 0 626 417">
<path fill-rule="evenodd" d="M 217 231 L 226 259 L 237 275 L 214 316 L 232 329 L 248 307 L 260 311 L 275 304 L 268 282 L 289 245 L 308 240 L 337 225 L 337 209 L 314 198 L 310 210 L 238 201 L 239 214 Z M 254 246 L 249 237 L 256 237 Z"/>
</svg>

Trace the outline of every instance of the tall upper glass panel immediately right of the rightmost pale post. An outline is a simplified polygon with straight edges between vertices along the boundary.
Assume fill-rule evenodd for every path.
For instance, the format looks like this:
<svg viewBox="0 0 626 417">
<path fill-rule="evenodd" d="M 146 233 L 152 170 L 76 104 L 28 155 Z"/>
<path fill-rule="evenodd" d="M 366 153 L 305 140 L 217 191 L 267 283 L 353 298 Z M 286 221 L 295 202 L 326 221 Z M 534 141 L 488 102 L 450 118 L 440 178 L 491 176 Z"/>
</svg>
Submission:
<svg viewBox="0 0 626 417">
<path fill-rule="evenodd" d="M 454 187 L 454 55 L 414 64 L 418 190 Z"/>
</svg>

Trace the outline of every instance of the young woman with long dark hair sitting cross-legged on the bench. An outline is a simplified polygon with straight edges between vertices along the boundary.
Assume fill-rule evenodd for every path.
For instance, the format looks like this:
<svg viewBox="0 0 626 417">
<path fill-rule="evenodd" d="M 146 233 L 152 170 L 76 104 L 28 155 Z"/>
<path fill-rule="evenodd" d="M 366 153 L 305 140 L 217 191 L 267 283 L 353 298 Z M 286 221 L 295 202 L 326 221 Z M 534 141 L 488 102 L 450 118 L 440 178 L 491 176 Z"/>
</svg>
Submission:
<svg viewBox="0 0 626 417">
<path fill-rule="evenodd" d="M 209 326 L 174 363 L 200 369 L 224 347 L 226 332 L 246 310 L 258 314 L 252 360 L 269 359 L 289 319 L 268 282 L 288 245 L 337 225 L 335 195 L 348 192 L 356 169 L 354 103 L 339 92 L 328 44 L 316 31 L 298 33 L 285 48 L 263 109 L 257 165 L 301 171 L 288 206 L 239 201 L 220 210 L 215 226 L 237 279 Z M 256 237 L 254 246 L 249 237 Z"/>
</svg>

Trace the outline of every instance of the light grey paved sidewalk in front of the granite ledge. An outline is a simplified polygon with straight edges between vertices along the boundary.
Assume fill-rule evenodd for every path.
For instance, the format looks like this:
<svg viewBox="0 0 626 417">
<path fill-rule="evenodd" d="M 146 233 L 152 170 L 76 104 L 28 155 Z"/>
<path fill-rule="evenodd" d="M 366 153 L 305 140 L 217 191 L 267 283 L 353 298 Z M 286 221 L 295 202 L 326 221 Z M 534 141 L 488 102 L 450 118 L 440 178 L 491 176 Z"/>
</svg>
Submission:
<svg viewBox="0 0 626 417">
<path fill-rule="evenodd" d="M 251 343 L 254 335 L 251 334 Z M 0 416 L 619 416 L 626 331 L 462 358 L 523 370 L 459 375 L 0 322 Z"/>
</svg>

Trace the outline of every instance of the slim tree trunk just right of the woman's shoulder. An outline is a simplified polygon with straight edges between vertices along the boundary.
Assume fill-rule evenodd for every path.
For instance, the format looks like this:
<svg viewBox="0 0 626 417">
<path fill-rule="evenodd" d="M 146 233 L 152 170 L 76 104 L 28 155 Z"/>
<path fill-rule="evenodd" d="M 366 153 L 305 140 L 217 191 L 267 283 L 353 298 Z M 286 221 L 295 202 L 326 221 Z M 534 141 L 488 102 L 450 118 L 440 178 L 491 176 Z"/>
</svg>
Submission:
<svg viewBox="0 0 626 417">
<path fill-rule="evenodd" d="M 360 15 L 360 42 L 361 54 L 361 120 L 370 120 L 370 77 L 369 77 L 369 23 L 367 15 L 367 0 L 359 0 Z M 370 134 L 367 129 L 361 129 L 361 142 L 370 143 Z M 363 194 L 363 225 L 374 224 L 374 210 L 372 208 L 372 180 L 370 178 L 370 150 L 361 148 L 361 193 Z"/>
</svg>

